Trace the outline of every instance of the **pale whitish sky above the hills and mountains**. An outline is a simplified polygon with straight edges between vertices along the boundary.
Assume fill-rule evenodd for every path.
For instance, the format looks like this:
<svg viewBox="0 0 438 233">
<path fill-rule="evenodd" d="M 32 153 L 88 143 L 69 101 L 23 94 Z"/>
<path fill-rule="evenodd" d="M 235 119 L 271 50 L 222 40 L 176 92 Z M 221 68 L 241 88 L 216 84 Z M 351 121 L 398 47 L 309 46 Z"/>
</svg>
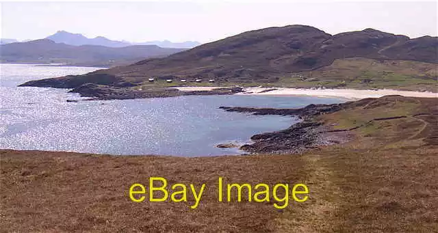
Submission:
<svg viewBox="0 0 438 233">
<path fill-rule="evenodd" d="M 311 25 L 340 33 L 374 28 L 437 36 L 437 1 L 2 2 L 1 38 L 45 38 L 58 30 L 144 42 L 220 40 L 265 27 Z"/>
</svg>

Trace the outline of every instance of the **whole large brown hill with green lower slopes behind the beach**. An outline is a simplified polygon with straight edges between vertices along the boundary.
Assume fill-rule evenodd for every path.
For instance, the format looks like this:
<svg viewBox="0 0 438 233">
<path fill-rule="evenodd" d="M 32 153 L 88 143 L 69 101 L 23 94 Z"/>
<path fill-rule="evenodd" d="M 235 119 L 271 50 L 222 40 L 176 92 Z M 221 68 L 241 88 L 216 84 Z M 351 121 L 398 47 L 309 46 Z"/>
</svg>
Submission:
<svg viewBox="0 0 438 233">
<path fill-rule="evenodd" d="M 146 85 L 149 77 L 158 77 L 161 83 L 165 79 L 214 78 L 216 85 L 389 85 L 436 92 L 437 47 L 438 38 L 430 36 L 410 39 L 375 29 L 332 36 L 315 27 L 289 25 L 247 31 L 168 57 L 85 74 L 80 79 L 96 83 L 96 75 L 109 74 L 118 82 L 123 79 L 140 86 Z M 25 85 L 57 87 L 59 81 L 76 78 L 63 77 L 53 85 L 50 81 Z"/>
</svg>

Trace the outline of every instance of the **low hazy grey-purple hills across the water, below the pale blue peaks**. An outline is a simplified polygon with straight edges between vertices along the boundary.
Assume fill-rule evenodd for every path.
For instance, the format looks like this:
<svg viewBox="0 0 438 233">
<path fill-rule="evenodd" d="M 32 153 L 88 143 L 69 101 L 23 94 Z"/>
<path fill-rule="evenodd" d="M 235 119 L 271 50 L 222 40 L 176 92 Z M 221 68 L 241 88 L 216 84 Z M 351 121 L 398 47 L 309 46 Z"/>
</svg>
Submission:
<svg viewBox="0 0 438 233">
<path fill-rule="evenodd" d="M 75 36 L 81 38 L 81 36 Z M 148 57 L 164 57 L 184 49 L 156 45 L 113 48 L 98 45 L 73 46 L 41 39 L 0 45 L 2 63 L 72 64 L 80 66 L 119 66 Z"/>
</svg>

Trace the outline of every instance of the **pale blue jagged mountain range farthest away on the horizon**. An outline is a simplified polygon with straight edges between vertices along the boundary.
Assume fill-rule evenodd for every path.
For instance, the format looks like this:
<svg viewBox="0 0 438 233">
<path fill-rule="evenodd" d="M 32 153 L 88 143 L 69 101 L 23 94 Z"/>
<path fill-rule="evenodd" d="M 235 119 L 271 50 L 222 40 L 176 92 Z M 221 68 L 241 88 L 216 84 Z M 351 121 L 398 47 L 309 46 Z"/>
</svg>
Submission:
<svg viewBox="0 0 438 233">
<path fill-rule="evenodd" d="M 186 42 L 170 42 L 168 40 L 164 41 L 150 41 L 150 42 L 140 42 L 131 43 L 127 41 L 117 41 L 104 38 L 103 36 L 98 36 L 96 38 L 86 38 L 79 33 L 70 33 L 68 31 L 57 31 L 55 34 L 48 36 L 46 39 L 53 40 L 57 43 L 70 44 L 75 46 L 80 45 L 101 45 L 107 47 L 125 47 L 130 45 L 157 45 L 162 48 L 179 48 L 179 49 L 191 49 L 194 46 L 198 46 L 199 42 L 196 41 L 186 41 Z"/>
</svg>

